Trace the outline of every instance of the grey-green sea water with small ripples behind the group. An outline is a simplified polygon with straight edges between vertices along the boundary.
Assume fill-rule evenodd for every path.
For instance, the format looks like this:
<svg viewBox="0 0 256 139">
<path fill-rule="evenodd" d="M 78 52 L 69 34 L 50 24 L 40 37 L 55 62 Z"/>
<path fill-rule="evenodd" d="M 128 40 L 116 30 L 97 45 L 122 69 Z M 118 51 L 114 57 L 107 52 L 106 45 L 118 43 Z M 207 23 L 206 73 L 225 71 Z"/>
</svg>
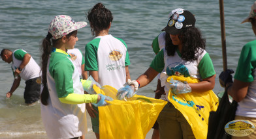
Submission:
<svg viewBox="0 0 256 139">
<path fill-rule="evenodd" d="M 223 64 L 217 0 L 2 0 L 0 1 L 0 51 L 3 48 L 25 49 L 39 63 L 41 54 L 39 46 L 54 16 L 65 14 L 75 21 L 87 21 L 86 13 L 98 2 L 110 9 L 114 16 L 110 34 L 122 38 L 128 45 L 131 79 L 136 79 L 150 66 L 155 56 L 151 47 L 152 40 L 167 25 L 168 13 L 175 8 L 184 8 L 195 14 L 196 27 L 206 38 L 206 51 L 212 58 L 217 74 L 214 92 L 217 94 L 223 91 L 218 81 Z M 234 70 L 242 46 L 255 39 L 250 23 L 240 24 L 249 15 L 252 3 L 251 0 L 224 1 L 227 64 L 228 68 Z M 84 53 L 84 46 L 93 39 L 89 26 L 78 31 L 78 38 L 75 47 Z M 46 138 L 40 119 L 40 104 L 25 106 L 24 81 L 10 99 L 5 98 L 14 80 L 10 69 L 10 64 L 0 62 L 0 138 Z M 141 88 L 138 94 L 154 97 L 153 90 L 156 84 L 157 79 L 154 79 L 148 86 Z M 90 124 L 88 115 L 86 138 L 95 138 Z M 146 138 L 151 138 L 151 133 L 148 133 Z"/>
</svg>

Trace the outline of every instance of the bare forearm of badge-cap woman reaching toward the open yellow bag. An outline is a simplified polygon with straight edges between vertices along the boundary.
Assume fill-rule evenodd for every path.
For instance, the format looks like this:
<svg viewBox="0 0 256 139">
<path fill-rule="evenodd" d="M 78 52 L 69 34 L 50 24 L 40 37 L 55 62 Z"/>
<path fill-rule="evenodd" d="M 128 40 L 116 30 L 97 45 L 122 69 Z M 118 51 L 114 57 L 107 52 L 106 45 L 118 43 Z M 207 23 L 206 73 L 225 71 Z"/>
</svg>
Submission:
<svg viewBox="0 0 256 139">
<path fill-rule="evenodd" d="M 137 78 L 137 81 L 140 82 L 140 88 L 149 84 L 157 76 L 158 73 L 159 72 L 157 72 L 155 69 L 151 67 L 148 68 L 145 73 L 143 73 L 142 75 L 140 75 L 140 77 Z"/>
</svg>

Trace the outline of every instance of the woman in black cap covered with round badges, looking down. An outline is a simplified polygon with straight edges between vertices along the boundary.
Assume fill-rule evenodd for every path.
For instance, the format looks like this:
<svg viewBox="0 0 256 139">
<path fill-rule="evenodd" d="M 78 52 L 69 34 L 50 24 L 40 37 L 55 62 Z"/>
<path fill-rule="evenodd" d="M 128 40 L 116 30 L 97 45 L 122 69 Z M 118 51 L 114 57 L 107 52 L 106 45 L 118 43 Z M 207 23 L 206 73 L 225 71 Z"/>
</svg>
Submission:
<svg viewBox="0 0 256 139">
<path fill-rule="evenodd" d="M 157 53 L 150 68 L 140 75 L 136 81 L 128 84 L 143 87 L 149 84 L 158 73 L 163 70 L 167 75 L 194 77 L 198 83 L 183 83 L 175 81 L 172 84 L 165 80 L 165 93 L 172 88 L 173 94 L 185 94 L 187 92 L 206 92 L 212 90 L 215 85 L 216 73 L 209 54 L 205 51 L 205 40 L 201 32 L 195 27 L 195 17 L 191 12 L 178 8 L 173 10 L 168 19 L 164 36 L 165 47 Z M 161 36 L 163 37 L 163 36 Z M 163 74 L 163 73 L 162 73 Z M 131 96 L 130 91 L 121 90 L 118 98 Z M 168 98 L 167 98 L 167 101 Z M 160 138 L 195 138 L 191 126 L 182 113 L 170 103 L 163 108 L 159 117 Z"/>
</svg>

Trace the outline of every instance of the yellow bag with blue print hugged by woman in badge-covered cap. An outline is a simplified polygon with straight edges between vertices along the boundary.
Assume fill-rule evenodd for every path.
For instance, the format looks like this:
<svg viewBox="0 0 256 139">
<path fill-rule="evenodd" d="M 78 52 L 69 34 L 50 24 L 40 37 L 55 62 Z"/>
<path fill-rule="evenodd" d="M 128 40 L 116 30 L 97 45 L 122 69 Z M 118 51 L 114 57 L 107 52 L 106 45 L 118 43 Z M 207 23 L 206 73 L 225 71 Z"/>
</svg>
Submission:
<svg viewBox="0 0 256 139">
<path fill-rule="evenodd" d="M 198 79 L 183 76 L 170 76 L 170 79 L 186 81 L 187 83 L 197 83 Z M 219 105 L 217 95 L 212 90 L 207 92 L 191 92 L 187 94 L 168 93 L 168 100 L 185 117 L 195 135 L 195 138 L 206 138 L 208 131 L 208 118 L 210 111 L 216 111 Z"/>
</svg>

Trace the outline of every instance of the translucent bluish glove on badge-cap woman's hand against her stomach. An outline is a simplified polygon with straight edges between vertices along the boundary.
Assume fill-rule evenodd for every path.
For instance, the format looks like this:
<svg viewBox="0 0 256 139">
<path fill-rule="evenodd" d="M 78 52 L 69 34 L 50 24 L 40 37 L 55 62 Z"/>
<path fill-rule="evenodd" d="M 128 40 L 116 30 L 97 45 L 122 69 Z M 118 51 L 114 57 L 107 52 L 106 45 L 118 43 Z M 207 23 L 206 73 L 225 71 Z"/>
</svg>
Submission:
<svg viewBox="0 0 256 139">
<path fill-rule="evenodd" d="M 191 92 L 191 87 L 187 82 L 181 82 L 178 80 L 170 79 L 170 82 L 167 82 L 166 84 L 167 88 L 172 88 L 173 94 L 186 94 Z"/>
</svg>

